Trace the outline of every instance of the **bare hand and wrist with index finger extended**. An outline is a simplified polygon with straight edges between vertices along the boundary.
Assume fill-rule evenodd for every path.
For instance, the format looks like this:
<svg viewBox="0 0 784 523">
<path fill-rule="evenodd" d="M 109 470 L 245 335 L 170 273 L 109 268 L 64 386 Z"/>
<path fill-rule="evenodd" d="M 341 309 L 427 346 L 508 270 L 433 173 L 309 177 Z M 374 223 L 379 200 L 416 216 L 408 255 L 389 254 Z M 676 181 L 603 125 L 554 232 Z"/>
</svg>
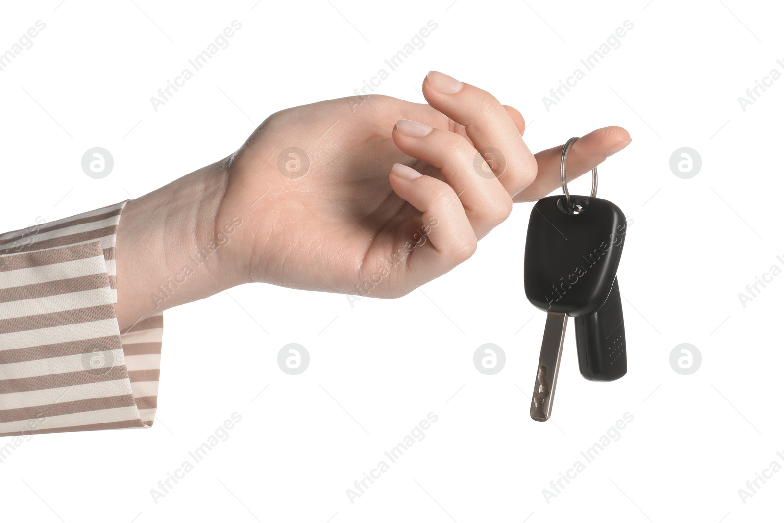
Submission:
<svg viewBox="0 0 784 523">
<path fill-rule="evenodd" d="M 532 154 L 516 109 L 436 71 L 423 94 L 428 104 L 370 95 L 280 111 L 230 157 L 129 202 L 121 328 L 154 314 L 151 293 L 233 220 L 230 241 L 158 307 L 251 281 L 402 296 L 469 258 L 513 202 L 560 187 L 561 145 Z M 629 142 L 619 127 L 581 137 L 568 178 Z"/>
</svg>

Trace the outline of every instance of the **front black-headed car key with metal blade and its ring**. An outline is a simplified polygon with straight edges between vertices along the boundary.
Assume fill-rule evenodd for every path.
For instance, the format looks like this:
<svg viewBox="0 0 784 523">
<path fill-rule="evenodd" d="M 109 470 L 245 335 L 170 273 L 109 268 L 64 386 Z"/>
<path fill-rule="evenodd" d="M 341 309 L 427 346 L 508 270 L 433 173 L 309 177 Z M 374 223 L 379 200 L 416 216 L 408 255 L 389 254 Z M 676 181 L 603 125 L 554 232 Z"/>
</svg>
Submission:
<svg viewBox="0 0 784 523">
<path fill-rule="evenodd" d="M 626 231 L 621 209 L 595 197 L 597 169 L 590 197 L 568 193 L 566 155 L 575 140 L 561 151 L 564 194 L 534 205 L 525 242 L 525 295 L 547 312 L 530 410 L 538 421 L 550 419 L 568 316 L 591 314 L 607 301 Z"/>
</svg>

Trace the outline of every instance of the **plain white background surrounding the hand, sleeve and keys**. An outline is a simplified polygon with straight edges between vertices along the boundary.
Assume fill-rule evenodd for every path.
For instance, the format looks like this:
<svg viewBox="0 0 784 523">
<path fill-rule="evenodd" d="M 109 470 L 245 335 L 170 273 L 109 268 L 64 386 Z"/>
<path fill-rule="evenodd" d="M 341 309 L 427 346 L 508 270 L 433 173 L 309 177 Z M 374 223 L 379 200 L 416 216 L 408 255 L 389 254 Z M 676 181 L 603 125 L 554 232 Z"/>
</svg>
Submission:
<svg viewBox="0 0 784 523">
<path fill-rule="evenodd" d="M 633 142 L 601 166 L 598 196 L 626 212 L 619 270 L 629 372 L 579 375 L 572 325 L 552 419 L 528 417 L 545 314 L 524 296 L 531 204 L 476 255 L 399 300 L 244 285 L 165 313 L 151 430 L 44 434 L 0 465 L 2 518 L 18 521 L 771 521 L 784 472 L 780 230 L 784 79 L 739 96 L 784 59 L 775 2 L 82 2 L 4 5 L 0 52 L 36 20 L 34 45 L 0 71 L 0 229 L 52 221 L 154 190 L 237 149 L 268 114 L 348 96 L 428 20 L 437 29 L 376 92 L 422 102 L 436 69 L 479 85 L 528 122 L 533 151 L 605 125 Z M 331 3 L 330 3 L 331 2 Z M 256 5 L 255 5 L 256 4 Z M 150 97 L 232 20 L 242 24 L 176 96 Z M 547 111 L 542 98 L 624 20 L 633 29 Z M 105 147 L 114 170 L 82 172 Z M 674 176 L 693 147 L 702 169 Z M 585 193 L 587 177 L 572 192 Z M 524 325 L 524 326 L 523 326 Z M 289 376 L 278 350 L 302 343 Z M 474 368 L 497 343 L 506 365 Z M 689 376 L 670 351 L 692 343 Z M 260 394 L 260 391 L 263 392 Z M 169 494 L 151 488 L 232 412 L 242 416 Z M 364 495 L 346 489 L 428 412 L 438 416 Z M 591 463 L 580 455 L 633 421 Z M 0 441 L 2 443 L 2 441 Z M 575 461 L 556 497 L 543 488 Z"/>
</svg>

